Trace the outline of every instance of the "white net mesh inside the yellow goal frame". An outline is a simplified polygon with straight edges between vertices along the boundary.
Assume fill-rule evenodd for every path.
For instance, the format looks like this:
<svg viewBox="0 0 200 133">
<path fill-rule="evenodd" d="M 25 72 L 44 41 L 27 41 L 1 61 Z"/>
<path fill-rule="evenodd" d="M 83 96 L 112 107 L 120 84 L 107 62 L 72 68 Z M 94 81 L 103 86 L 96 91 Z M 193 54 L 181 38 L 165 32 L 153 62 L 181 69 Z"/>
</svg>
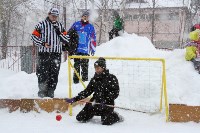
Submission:
<svg viewBox="0 0 200 133">
<path fill-rule="evenodd" d="M 89 80 L 94 76 L 96 60 L 89 61 Z M 106 65 L 119 81 L 120 94 L 116 106 L 145 112 L 159 110 L 163 70 L 161 61 L 106 59 Z M 78 88 L 80 85 L 73 84 L 72 90 Z"/>
</svg>

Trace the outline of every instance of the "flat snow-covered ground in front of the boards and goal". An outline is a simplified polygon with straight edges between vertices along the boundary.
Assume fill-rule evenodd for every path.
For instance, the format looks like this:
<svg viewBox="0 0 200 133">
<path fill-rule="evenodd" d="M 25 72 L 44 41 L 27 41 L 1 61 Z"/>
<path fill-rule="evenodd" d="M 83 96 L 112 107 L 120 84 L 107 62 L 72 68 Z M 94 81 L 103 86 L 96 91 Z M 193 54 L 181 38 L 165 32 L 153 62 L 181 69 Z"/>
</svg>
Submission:
<svg viewBox="0 0 200 133">
<path fill-rule="evenodd" d="M 74 114 L 81 110 L 76 107 Z M 62 120 L 56 121 L 56 113 L 7 113 L 0 111 L 0 131 L 2 133 L 199 133 L 200 124 L 166 123 L 163 115 L 150 116 L 130 111 L 116 110 L 125 121 L 112 126 L 100 124 L 100 118 L 94 117 L 88 123 L 79 123 L 75 115 L 61 114 Z"/>
</svg>

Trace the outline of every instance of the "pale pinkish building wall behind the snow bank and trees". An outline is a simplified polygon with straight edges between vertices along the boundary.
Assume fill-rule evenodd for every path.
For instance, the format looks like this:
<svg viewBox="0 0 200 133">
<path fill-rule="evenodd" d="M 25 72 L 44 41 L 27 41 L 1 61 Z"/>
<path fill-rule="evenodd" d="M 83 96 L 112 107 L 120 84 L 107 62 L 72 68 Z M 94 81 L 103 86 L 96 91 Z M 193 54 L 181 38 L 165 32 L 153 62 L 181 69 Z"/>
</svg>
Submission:
<svg viewBox="0 0 200 133">
<path fill-rule="evenodd" d="M 152 12 L 152 8 L 125 9 L 123 11 L 125 31 L 146 36 L 151 40 Z M 165 48 L 180 47 L 187 39 L 184 38 L 189 26 L 187 13 L 188 9 L 185 7 L 156 8 L 153 44 L 157 47 Z M 111 13 L 108 13 L 105 18 L 101 42 L 108 41 L 108 31 L 112 28 Z M 99 40 L 100 19 L 96 24 L 97 38 Z"/>
</svg>

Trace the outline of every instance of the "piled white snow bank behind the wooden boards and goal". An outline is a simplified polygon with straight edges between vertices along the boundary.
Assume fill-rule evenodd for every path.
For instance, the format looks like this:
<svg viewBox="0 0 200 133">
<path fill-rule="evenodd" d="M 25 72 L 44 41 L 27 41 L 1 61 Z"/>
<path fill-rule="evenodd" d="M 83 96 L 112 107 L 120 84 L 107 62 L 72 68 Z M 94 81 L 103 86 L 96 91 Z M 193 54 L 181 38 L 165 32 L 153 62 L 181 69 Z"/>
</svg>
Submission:
<svg viewBox="0 0 200 133">
<path fill-rule="evenodd" d="M 146 37 L 123 34 L 97 47 L 96 56 L 151 57 L 166 60 L 167 90 L 170 103 L 200 105 L 200 75 L 191 62 L 184 60 L 185 50 L 160 51 Z M 4 76 L 5 75 L 5 76 Z M 73 93 L 82 90 L 76 85 Z M 24 72 L 14 73 L 0 69 L 0 98 L 36 98 L 37 77 Z M 67 63 L 61 65 L 55 97 L 68 97 Z"/>
</svg>

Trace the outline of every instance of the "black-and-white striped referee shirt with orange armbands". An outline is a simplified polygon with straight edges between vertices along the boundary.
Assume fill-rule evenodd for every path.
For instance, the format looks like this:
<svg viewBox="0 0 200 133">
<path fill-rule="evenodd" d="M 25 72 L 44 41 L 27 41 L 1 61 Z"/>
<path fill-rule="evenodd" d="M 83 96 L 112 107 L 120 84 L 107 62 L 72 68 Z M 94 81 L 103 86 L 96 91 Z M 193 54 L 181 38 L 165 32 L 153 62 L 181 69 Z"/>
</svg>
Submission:
<svg viewBox="0 0 200 133">
<path fill-rule="evenodd" d="M 56 26 L 61 32 L 60 35 L 56 33 L 54 24 L 49 20 L 48 17 L 46 20 L 36 25 L 31 39 L 33 43 L 38 46 L 39 52 L 62 52 L 62 44 L 67 43 L 69 38 L 61 23 L 56 22 Z M 46 48 L 45 43 L 48 43 L 51 47 Z"/>
</svg>

